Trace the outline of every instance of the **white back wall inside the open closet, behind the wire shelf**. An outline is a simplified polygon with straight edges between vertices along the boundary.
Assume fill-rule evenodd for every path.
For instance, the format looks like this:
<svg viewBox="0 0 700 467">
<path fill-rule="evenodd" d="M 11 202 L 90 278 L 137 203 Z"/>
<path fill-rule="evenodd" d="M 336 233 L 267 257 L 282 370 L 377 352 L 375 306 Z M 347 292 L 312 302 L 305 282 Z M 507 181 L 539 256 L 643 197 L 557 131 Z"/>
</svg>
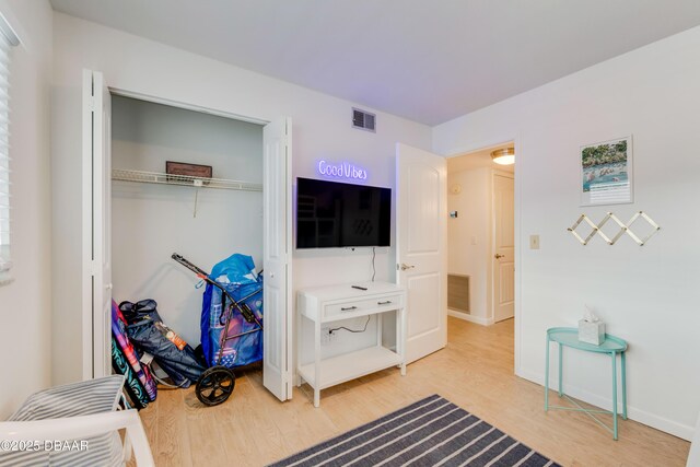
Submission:
<svg viewBox="0 0 700 467">
<path fill-rule="evenodd" d="M 165 161 L 210 165 L 215 178 L 262 183 L 262 127 L 137 101 L 112 98 L 112 166 L 165 172 Z M 197 197 L 195 203 L 195 197 Z M 114 182 L 112 282 L 117 303 L 153 299 L 165 323 L 197 346 L 203 289 L 171 259 L 210 271 L 234 253 L 262 268 L 262 192 Z"/>
</svg>

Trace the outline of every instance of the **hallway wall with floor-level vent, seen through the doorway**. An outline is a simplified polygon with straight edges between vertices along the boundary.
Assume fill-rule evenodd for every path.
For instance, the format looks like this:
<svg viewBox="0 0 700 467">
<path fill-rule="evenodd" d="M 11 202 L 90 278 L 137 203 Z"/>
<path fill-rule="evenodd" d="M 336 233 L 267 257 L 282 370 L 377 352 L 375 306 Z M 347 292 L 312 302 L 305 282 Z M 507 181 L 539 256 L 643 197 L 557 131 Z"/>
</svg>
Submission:
<svg viewBox="0 0 700 467">
<path fill-rule="evenodd" d="M 457 211 L 447 220 L 448 261 L 452 275 L 470 276 L 469 320 L 492 324 L 491 289 L 491 168 L 448 172 L 447 187 L 462 186 L 459 194 L 447 191 L 447 210 Z M 465 313 L 453 312 L 464 317 Z M 489 318 L 491 317 L 491 320 Z"/>
</svg>

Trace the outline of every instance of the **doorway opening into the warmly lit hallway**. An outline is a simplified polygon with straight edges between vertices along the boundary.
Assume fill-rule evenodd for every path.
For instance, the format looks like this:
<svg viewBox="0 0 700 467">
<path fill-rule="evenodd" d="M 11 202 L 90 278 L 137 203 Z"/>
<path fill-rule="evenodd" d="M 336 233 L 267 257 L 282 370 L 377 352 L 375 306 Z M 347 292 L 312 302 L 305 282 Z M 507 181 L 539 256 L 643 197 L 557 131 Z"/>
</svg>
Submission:
<svg viewBox="0 0 700 467">
<path fill-rule="evenodd" d="M 515 165 L 499 165 L 491 153 L 513 147 L 508 141 L 447 160 L 447 313 L 481 326 L 500 323 L 509 332 L 515 315 Z"/>
</svg>

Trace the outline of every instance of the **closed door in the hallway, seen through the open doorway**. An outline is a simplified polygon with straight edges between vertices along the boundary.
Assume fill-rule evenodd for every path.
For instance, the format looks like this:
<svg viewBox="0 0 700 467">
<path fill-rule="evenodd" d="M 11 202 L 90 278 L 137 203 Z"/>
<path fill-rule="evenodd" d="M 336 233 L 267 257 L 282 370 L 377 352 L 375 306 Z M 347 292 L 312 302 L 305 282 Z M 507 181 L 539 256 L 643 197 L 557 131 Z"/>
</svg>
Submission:
<svg viewBox="0 0 700 467">
<path fill-rule="evenodd" d="M 493 320 L 512 318 L 515 308 L 513 178 L 493 174 Z"/>
</svg>

